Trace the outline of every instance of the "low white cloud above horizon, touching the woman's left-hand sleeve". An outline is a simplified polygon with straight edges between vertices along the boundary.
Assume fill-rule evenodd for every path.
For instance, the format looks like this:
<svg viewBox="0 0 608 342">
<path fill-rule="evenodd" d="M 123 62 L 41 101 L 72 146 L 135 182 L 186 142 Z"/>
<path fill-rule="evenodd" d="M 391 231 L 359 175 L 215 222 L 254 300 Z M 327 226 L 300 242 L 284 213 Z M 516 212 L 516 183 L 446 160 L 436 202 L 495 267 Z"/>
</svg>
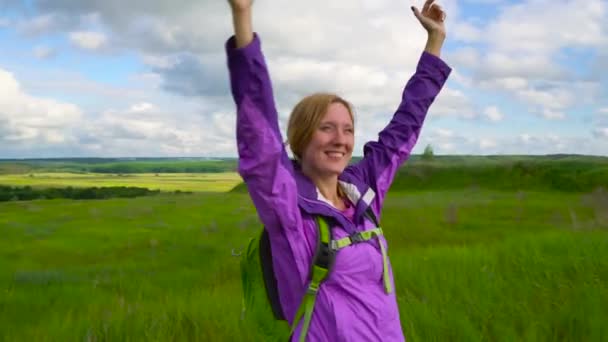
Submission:
<svg viewBox="0 0 608 342">
<path fill-rule="evenodd" d="M 84 123 L 82 148 L 106 156 L 229 156 L 236 153 L 234 114 L 173 115 L 152 103 L 107 110 Z"/>
</svg>

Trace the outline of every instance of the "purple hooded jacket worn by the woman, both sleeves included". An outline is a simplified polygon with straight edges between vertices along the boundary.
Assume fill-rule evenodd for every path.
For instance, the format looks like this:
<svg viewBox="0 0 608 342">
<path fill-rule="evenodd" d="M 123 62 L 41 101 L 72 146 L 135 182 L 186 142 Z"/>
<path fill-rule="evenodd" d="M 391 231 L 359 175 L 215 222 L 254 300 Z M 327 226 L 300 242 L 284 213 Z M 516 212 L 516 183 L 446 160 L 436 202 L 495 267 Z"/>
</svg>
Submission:
<svg viewBox="0 0 608 342">
<path fill-rule="evenodd" d="M 283 312 L 291 324 L 308 286 L 316 247 L 315 215 L 335 219 L 334 238 L 368 230 L 371 206 L 380 217 L 393 177 L 408 158 L 427 110 L 451 72 L 441 59 L 423 52 L 402 101 L 378 141 L 368 142 L 364 158 L 349 166 L 339 184 L 355 204 L 354 224 L 323 199 L 316 186 L 292 163 L 282 143 L 273 92 L 258 35 L 236 49 L 226 42 L 228 67 L 237 106 L 239 173 L 268 230 Z M 381 237 L 386 246 L 386 241 Z M 389 251 L 390 255 L 390 251 Z M 392 268 L 390 268 L 391 283 Z M 301 322 L 300 322 L 301 326 Z M 300 328 L 295 330 L 297 341 Z M 309 341 L 403 341 L 395 292 L 382 283 L 382 255 L 377 240 L 341 249 L 321 285 L 308 331 Z"/>
</svg>

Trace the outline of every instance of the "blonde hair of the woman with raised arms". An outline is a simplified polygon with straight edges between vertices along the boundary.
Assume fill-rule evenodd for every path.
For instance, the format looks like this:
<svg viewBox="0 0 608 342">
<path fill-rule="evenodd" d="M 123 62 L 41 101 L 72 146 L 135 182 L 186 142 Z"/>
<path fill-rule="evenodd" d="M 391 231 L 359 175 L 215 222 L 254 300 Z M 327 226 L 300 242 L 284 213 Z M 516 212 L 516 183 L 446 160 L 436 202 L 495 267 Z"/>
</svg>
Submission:
<svg viewBox="0 0 608 342">
<path fill-rule="evenodd" d="M 350 114 L 353 125 L 355 124 L 351 104 L 340 96 L 331 93 L 306 96 L 293 108 L 287 125 L 287 141 L 296 160 L 302 160 L 306 146 L 332 103 L 343 104 Z"/>
</svg>

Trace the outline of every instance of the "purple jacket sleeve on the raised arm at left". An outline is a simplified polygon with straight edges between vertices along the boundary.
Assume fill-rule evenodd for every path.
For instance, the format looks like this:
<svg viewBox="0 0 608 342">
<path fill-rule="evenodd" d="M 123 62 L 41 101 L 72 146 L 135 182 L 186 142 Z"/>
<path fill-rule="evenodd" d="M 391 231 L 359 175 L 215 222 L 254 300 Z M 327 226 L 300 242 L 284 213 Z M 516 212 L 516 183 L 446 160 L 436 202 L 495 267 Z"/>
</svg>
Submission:
<svg viewBox="0 0 608 342">
<path fill-rule="evenodd" d="M 269 233 L 301 223 L 293 165 L 282 143 L 272 86 L 257 34 L 242 48 L 226 42 L 236 104 L 238 171 Z"/>
</svg>

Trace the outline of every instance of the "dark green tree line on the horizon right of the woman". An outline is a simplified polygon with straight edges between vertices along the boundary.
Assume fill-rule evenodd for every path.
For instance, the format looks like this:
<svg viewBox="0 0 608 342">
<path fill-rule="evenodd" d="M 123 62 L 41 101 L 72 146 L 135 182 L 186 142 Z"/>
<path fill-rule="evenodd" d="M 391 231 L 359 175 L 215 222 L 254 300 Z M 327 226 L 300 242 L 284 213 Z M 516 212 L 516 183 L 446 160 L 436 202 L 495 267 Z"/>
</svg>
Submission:
<svg viewBox="0 0 608 342">
<path fill-rule="evenodd" d="M 427 148 L 395 175 L 391 191 L 484 188 L 588 192 L 608 188 L 608 158 L 436 156 Z M 247 192 L 245 183 L 232 192 Z"/>
</svg>

